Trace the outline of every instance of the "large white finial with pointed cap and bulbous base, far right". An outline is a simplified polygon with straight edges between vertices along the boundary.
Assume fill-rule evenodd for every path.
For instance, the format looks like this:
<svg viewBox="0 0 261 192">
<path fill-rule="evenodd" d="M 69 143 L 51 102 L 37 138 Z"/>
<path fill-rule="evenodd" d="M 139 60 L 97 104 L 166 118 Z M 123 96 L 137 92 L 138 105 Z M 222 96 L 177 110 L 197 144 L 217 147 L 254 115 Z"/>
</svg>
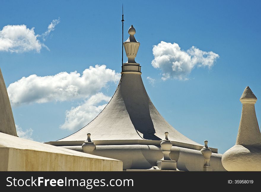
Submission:
<svg viewBox="0 0 261 192">
<path fill-rule="evenodd" d="M 240 98 L 241 119 L 236 143 L 222 155 L 227 171 L 261 171 L 261 133 L 255 112 L 257 98 L 247 86 Z"/>
</svg>

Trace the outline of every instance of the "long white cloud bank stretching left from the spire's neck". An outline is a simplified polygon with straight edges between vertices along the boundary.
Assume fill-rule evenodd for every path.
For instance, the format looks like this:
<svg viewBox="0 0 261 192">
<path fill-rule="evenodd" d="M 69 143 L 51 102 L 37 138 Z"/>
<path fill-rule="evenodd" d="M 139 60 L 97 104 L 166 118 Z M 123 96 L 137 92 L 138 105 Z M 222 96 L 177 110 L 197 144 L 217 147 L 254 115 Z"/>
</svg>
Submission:
<svg viewBox="0 0 261 192">
<path fill-rule="evenodd" d="M 36 74 L 11 83 L 7 92 L 13 106 L 23 103 L 45 103 L 87 98 L 98 93 L 108 82 L 117 83 L 120 73 L 106 69 L 106 65 L 90 66 L 82 76 L 75 72 L 60 72 L 40 77 Z"/>
</svg>

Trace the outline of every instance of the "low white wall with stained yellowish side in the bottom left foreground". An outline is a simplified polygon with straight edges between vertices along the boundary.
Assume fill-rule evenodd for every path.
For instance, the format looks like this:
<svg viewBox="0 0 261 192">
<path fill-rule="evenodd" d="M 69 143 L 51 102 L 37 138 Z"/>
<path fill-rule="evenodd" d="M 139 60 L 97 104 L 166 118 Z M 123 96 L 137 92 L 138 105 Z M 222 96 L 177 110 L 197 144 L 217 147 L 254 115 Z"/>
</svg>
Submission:
<svg viewBox="0 0 261 192">
<path fill-rule="evenodd" d="M 122 171 L 122 161 L 0 133 L 0 171 Z"/>
</svg>

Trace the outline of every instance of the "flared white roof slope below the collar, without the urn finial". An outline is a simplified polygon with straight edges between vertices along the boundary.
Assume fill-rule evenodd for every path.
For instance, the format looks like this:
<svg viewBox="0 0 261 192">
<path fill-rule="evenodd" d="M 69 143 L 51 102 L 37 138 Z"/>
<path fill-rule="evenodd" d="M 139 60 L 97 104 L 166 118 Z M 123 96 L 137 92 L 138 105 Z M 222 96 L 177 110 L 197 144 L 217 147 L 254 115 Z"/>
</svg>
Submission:
<svg viewBox="0 0 261 192">
<path fill-rule="evenodd" d="M 117 91 L 104 110 L 87 126 L 58 141 L 162 140 L 200 145 L 174 129 L 157 111 L 144 88 L 141 75 L 123 73 Z"/>
</svg>

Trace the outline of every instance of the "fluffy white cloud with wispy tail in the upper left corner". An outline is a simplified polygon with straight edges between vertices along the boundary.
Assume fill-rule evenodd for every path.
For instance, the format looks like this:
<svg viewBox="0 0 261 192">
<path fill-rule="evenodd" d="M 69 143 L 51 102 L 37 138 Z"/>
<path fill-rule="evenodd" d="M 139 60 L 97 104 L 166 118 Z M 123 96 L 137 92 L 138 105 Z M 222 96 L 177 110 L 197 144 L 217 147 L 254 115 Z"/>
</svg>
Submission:
<svg viewBox="0 0 261 192">
<path fill-rule="evenodd" d="M 54 30 L 55 25 L 59 22 L 60 18 L 52 20 L 47 31 L 43 34 L 43 39 Z M 39 34 L 35 34 L 34 27 L 30 29 L 26 25 L 4 26 L 0 30 L 0 51 L 22 53 L 35 50 L 39 53 L 42 47 L 48 49 L 46 45 L 39 41 L 39 37 Z"/>
</svg>

